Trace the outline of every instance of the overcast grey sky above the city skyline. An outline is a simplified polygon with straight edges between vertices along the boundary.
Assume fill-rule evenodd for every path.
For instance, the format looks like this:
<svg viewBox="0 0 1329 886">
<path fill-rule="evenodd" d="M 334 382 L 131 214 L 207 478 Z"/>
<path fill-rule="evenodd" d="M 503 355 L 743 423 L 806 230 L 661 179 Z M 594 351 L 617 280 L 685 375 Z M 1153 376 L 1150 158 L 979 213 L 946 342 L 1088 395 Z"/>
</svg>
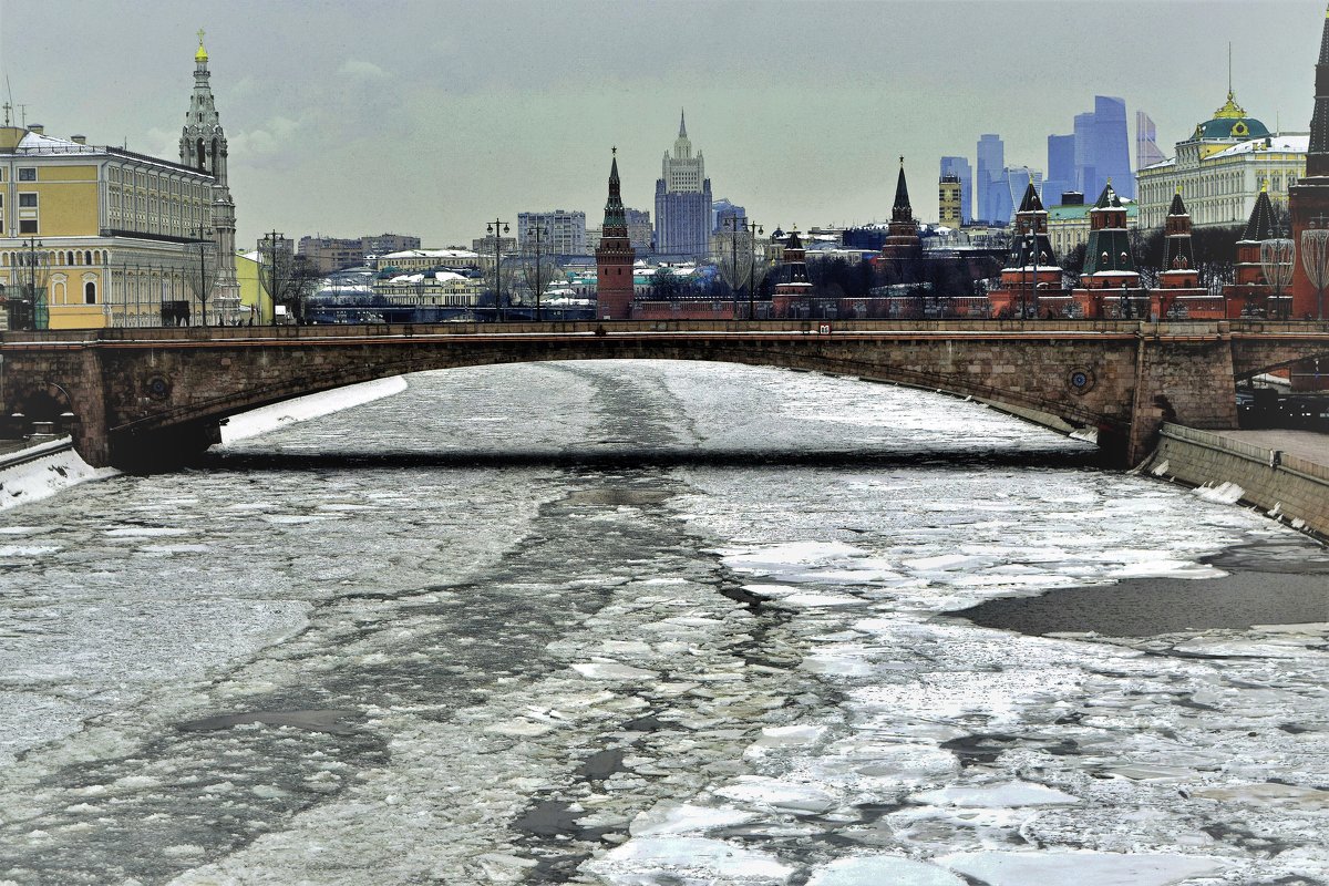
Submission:
<svg viewBox="0 0 1329 886">
<path fill-rule="evenodd" d="M 0 0 L 0 70 L 47 133 L 178 158 L 206 29 L 239 242 L 262 231 L 469 243 L 585 210 L 610 146 L 653 210 L 687 109 L 716 198 L 768 227 L 888 218 L 897 157 L 936 218 L 937 162 L 999 133 L 1045 169 L 1094 94 L 1185 137 L 1233 86 L 1309 128 L 1324 0 L 468 3 Z M 15 112 L 16 117 L 20 112 Z M 1132 132 L 1134 137 L 1134 132 Z M 1134 157 L 1134 150 L 1132 150 Z"/>
</svg>

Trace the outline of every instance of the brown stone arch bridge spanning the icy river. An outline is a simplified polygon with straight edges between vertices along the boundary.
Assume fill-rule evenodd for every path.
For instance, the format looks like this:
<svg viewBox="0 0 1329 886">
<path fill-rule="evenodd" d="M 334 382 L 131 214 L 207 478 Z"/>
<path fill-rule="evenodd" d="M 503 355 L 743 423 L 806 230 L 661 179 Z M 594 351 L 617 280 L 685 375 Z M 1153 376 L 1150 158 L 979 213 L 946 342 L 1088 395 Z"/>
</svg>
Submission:
<svg viewBox="0 0 1329 886">
<path fill-rule="evenodd" d="M 1236 428 L 1235 383 L 1329 361 L 1329 323 L 1098 320 L 606 321 L 7 332 L 0 408 L 73 413 L 93 465 L 153 469 L 226 417 L 407 372 L 540 360 L 678 359 L 918 385 L 1094 426 L 1123 465 L 1163 421 Z M 775 383 L 777 384 L 777 381 Z"/>
</svg>

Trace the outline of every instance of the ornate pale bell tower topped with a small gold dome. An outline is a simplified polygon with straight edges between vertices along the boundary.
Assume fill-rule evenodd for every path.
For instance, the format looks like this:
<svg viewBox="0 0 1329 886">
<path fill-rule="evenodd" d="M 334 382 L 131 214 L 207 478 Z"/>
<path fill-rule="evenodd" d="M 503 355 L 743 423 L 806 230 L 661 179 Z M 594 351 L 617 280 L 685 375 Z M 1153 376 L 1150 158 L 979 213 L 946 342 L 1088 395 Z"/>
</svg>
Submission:
<svg viewBox="0 0 1329 886">
<path fill-rule="evenodd" d="M 206 321 L 239 307 L 241 287 L 235 280 L 235 203 L 226 185 L 226 133 L 213 102 L 209 84 L 207 50 L 203 32 L 198 32 L 198 52 L 194 53 L 194 94 L 185 114 L 185 129 L 179 135 L 179 162 L 213 177 L 211 218 L 213 239 L 217 242 L 217 283 L 207 300 L 210 317 Z"/>
</svg>

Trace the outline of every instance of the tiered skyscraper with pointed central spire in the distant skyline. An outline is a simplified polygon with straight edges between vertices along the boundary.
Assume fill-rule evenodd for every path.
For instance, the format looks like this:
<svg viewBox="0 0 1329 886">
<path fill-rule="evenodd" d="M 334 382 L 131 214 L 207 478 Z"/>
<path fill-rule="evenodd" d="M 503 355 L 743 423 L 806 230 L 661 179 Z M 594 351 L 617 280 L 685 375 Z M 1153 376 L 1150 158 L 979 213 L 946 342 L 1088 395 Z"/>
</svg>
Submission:
<svg viewBox="0 0 1329 886">
<path fill-rule="evenodd" d="M 664 153 L 655 181 L 655 252 L 700 259 L 711 251 L 711 179 L 702 151 L 692 155 L 687 122 L 679 112 L 674 150 Z"/>
</svg>

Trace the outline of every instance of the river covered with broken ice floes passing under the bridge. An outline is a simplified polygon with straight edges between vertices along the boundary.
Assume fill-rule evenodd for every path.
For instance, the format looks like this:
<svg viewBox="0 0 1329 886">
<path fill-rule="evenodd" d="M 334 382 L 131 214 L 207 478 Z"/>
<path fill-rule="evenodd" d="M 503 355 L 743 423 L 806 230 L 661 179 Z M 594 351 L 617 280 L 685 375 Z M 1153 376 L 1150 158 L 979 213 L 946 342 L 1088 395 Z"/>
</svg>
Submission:
<svg viewBox="0 0 1329 886">
<path fill-rule="evenodd" d="M 0 883 L 1329 883 L 1304 537 L 852 379 L 404 388 L 0 513 Z"/>
</svg>

